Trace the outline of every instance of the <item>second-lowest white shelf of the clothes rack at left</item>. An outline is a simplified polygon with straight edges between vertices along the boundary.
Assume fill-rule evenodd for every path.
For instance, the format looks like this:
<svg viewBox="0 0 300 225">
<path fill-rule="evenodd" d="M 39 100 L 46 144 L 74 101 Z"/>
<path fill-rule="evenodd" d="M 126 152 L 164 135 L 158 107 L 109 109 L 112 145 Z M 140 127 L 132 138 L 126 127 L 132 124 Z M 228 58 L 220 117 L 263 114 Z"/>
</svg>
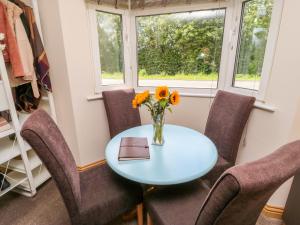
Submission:
<svg viewBox="0 0 300 225">
<path fill-rule="evenodd" d="M 27 152 L 27 157 L 30 165 L 30 170 L 34 170 L 38 166 L 42 165 L 40 158 L 33 150 Z M 6 167 L 6 165 L 3 164 L 2 167 Z M 26 173 L 24 162 L 22 159 L 14 158 L 10 160 L 8 169 L 15 170 L 20 173 Z"/>
</svg>

